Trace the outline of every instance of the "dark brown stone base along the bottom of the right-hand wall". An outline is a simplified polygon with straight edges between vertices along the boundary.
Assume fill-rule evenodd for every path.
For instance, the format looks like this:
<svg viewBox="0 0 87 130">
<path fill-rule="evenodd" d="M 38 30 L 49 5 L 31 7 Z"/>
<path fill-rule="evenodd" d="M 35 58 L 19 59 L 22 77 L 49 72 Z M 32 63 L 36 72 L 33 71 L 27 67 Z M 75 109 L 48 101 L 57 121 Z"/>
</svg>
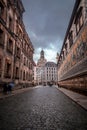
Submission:
<svg viewBox="0 0 87 130">
<path fill-rule="evenodd" d="M 59 86 L 87 95 L 87 74 L 60 81 Z"/>
</svg>

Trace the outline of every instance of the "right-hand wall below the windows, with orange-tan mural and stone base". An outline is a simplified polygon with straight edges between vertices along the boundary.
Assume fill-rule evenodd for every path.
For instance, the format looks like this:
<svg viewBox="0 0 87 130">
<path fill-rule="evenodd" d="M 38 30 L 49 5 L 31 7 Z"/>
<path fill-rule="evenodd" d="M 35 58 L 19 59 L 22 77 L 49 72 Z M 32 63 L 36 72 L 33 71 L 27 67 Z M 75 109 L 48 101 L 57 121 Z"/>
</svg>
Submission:
<svg viewBox="0 0 87 130">
<path fill-rule="evenodd" d="M 87 93 L 87 23 L 58 68 L 58 83 L 61 87 Z"/>
</svg>

